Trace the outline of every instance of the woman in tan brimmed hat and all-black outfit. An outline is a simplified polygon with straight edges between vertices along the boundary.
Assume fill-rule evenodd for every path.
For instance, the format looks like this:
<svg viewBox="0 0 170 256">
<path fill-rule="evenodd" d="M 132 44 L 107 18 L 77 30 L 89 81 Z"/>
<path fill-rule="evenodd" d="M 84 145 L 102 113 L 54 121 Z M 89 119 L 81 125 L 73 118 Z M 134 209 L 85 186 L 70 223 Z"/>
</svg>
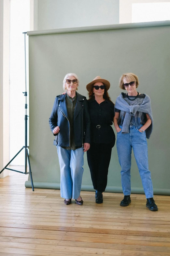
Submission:
<svg viewBox="0 0 170 256">
<path fill-rule="evenodd" d="M 111 127 L 114 118 L 114 104 L 108 95 L 110 83 L 101 77 L 95 77 L 87 84 L 89 92 L 89 112 L 91 119 L 92 141 L 87 151 L 93 187 L 96 190 L 96 203 L 103 203 L 103 192 L 107 185 L 108 167 L 115 134 Z"/>
</svg>

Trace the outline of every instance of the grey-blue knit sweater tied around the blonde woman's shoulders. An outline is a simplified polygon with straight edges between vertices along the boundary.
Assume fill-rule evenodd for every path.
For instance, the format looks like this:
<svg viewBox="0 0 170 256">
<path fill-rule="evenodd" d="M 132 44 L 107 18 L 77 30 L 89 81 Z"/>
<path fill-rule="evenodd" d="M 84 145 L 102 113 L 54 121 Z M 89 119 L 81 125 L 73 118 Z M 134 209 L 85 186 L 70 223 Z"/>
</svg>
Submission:
<svg viewBox="0 0 170 256">
<path fill-rule="evenodd" d="M 146 96 L 141 105 L 131 105 L 131 106 L 123 98 L 122 94 L 120 94 L 117 97 L 116 103 L 115 103 L 115 108 L 126 112 L 121 133 L 123 133 L 123 134 L 129 133 L 129 125 L 130 125 L 130 121 L 131 121 L 131 116 L 135 116 L 136 112 L 139 111 L 139 112 L 144 112 L 144 113 L 149 114 L 149 117 L 152 121 L 151 125 L 145 130 L 147 139 L 150 138 L 150 135 L 153 130 L 153 116 L 152 116 L 150 98 L 147 94 L 145 94 L 145 95 Z"/>
</svg>

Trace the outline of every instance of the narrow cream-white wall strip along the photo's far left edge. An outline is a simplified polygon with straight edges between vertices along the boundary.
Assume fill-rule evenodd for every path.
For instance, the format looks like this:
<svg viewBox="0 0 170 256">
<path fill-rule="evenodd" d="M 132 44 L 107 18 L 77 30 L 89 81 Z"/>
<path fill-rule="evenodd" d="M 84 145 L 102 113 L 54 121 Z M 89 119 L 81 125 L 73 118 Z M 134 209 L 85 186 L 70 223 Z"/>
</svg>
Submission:
<svg viewBox="0 0 170 256">
<path fill-rule="evenodd" d="M 9 0 L 0 1 L 0 171 L 9 162 Z M 4 170 L 0 178 L 9 173 Z"/>
</svg>

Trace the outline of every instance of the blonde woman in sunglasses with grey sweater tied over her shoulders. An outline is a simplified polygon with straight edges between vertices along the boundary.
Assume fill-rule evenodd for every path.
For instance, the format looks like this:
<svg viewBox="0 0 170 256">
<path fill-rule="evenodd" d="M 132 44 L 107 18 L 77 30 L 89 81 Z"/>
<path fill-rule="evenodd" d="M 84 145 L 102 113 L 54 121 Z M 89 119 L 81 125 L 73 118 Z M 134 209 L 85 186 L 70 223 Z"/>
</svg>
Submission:
<svg viewBox="0 0 170 256">
<path fill-rule="evenodd" d="M 153 186 L 148 169 L 147 139 L 153 130 L 153 117 L 150 98 L 147 94 L 139 94 L 136 88 L 138 77 L 133 73 L 125 73 L 120 77 L 119 86 L 126 90 L 121 93 L 115 104 L 114 126 L 117 131 L 117 151 L 121 166 L 121 184 L 124 198 L 120 206 L 131 203 L 131 153 L 132 148 L 139 169 L 142 185 L 147 198 L 146 206 L 151 211 L 158 211 L 153 199 Z"/>
</svg>

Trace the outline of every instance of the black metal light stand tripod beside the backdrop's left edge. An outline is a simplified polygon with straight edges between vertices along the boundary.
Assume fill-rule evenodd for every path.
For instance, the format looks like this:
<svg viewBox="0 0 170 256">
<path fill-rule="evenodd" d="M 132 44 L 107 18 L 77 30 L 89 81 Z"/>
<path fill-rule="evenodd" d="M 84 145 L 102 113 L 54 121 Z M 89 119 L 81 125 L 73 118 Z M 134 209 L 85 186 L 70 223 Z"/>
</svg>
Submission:
<svg viewBox="0 0 170 256">
<path fill-rule="evenodd" d="M 20 172 L 23 174 L 30 174 L 30 178 L 31 178 L 31 185 L 32 185 L 32 190 L 34 191 L 34 185 L 33 185 L 33 178 L 32 178 L 32 173 L 31 173 L 31 165 L 30 165 L 30 159 L 29 159 L 29 154 L 28 154 L 28 148 L 29 146 L 27 146 L 27 120 L 28 120 L 28 115 L 27 115 L 27 81 L 26 81 L 26 42 L 25 42 L 25 34 L 26 32 L 23 32 L 22 34 L 24 34 L 24 52 L 25 52 L 25 92 L 23 92 L 24 96 L 25 96 L 25 146 L 23 146 L 20 151 L 7 163 L 7 165 L 2 169 L 2 171 L 0 172 L 0 174 L 5 170 L 11 170 L 14 172 L 20 172 L 17 170 L 13 170 L 13 169 L 9 169 L 7 168 L 7 166 L 10 164 L 10 162 L 12 162 L 14 160 L 14 158 L 16 158 L 16 156 L 18 156 L 18 154 L 22 151 L 22 149 L 25 149 L 25 172 Z M 28 159 L 28 165 L 29 165 L 29 172 L 27 172 L 27 159 Z"/>
</svg>

